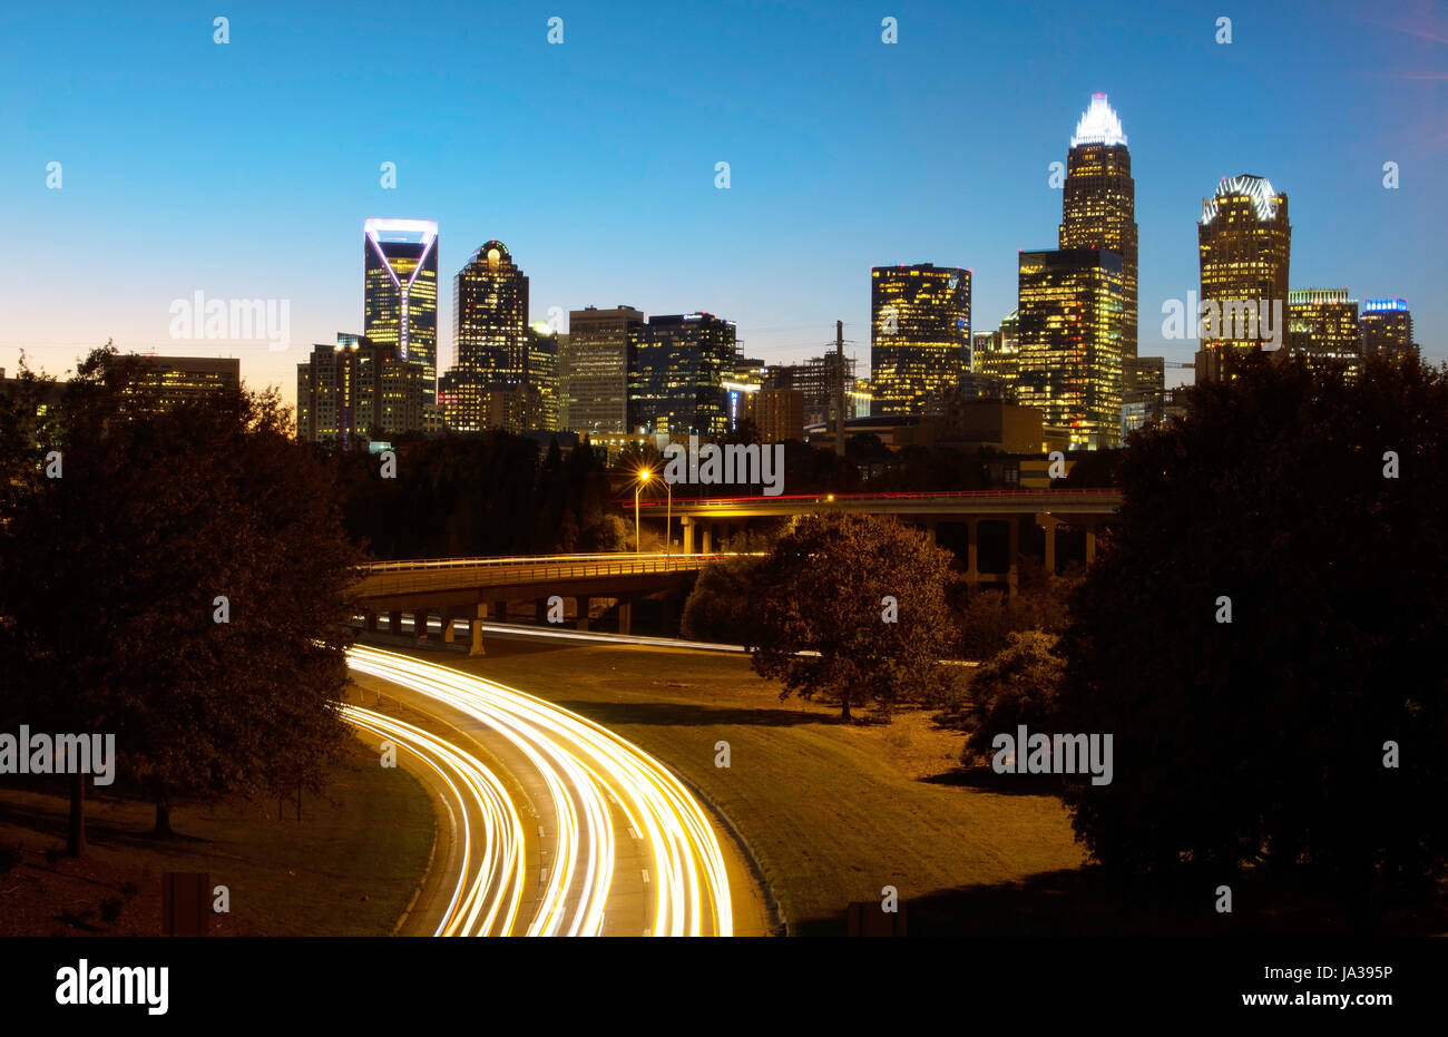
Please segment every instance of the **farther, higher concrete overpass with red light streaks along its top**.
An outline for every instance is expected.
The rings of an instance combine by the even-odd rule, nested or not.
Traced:
[[[633,500],[618,501],[633,510]],[[1003,584],[1014,594],[1018,584],[1021,526],[1031,523],[1044,532],[1045,568],[1056,572],[1056,534],[1061,526],[1082,527],[1086,534],[1086,563],[1096,556],[1096,533],[1121,507],[1119,490],[963,490],[950,492],[895,494],[799,494],[794,497],[653,497],[639,501],[640,520],[681,526],[682,553],[708,555],[747,527],[752,518],[779,518],[827,511],[892,514],[921,526],[935,540],[938,526],[964,527],[966,578],[973,584]],[[979,545],[982,526],[1006,527],[1003,572],[982,572]]]

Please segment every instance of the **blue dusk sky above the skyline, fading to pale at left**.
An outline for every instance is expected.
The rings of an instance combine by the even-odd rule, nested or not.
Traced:
[[[872,265],[970,268],[977,329],[1014,308],[1098,90],[1132,154],[1142,355],[1190,359],[1161,303],[1197,287],[1202,198],[1253,172],[1289,196],[1293,287],[1403,295],[1448,359],[1448,4],[1234,6],[7,6],[0,366],[26,348],[59,374],[114,337],[240,356],[291,400],[308,343],[362,330],[368,216],[439,222],[443,366],[452,275],[489,238],[536,319],[708,310],[767,361],[843,319],[867,365]],[[169,339],[195,291],[290,300],[291,349]]]

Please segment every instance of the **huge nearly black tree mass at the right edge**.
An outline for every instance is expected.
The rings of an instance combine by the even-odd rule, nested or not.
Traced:
[[[1069,789],[1076,831],[1124,875],[1425,894],[1448,855],[1448,369],[1235,374],[1122,453],[1061,642],[1061,723],[1118,756]]]

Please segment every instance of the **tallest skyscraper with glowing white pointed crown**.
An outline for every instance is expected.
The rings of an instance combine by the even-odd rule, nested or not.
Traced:
[[[1137,355],[1137,182],[1121,119],[1093,94],[1066,155],[1060,248],[1106,249],[1121,256],[1121,355]]]

